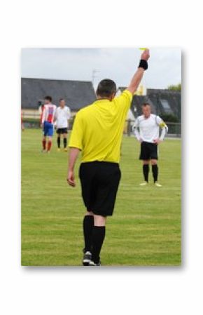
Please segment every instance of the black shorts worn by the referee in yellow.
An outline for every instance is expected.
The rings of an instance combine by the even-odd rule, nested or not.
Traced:
[[[95,215],[113,215],[120,182],[118,163],[85,162],[80,164],[80,185],[87,211]]]

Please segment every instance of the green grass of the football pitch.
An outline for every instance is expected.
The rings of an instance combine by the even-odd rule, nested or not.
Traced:
[[[181,264],[181,141],[160,145],[161,188],[143,180],[139,144],[123,138],[122,180],[109,217],[102,264],[171,266]],[[22,265],[78,266],[83,248],[84,206],[78,165],[75,188],[66,184],[67,155],[41,154],[41,130],[22,133]]]

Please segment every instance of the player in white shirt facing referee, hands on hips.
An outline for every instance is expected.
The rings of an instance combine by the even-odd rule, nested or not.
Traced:
[[[138,116],[134,123],[134,135],[141,143],[139,159],[143,161],[144,182],[141,186],[148,184],[149,164],[151,162],[154,184],[161,187],[158,183],[158,145],[165,138],[168,127],[166,123],[155,114],[151,114],[151,105],[142,105],[143,115]],[[161,135],[160,135],[161,128]]]

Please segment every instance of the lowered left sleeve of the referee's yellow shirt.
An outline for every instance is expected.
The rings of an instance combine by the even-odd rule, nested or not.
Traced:
[[[76,114],[76,118],[73,123],[73,129],[71,131],[71,137],[69,140],[69,147],[76,147],[80,150],[83,149],[83,121],[80,117],[80,112]]]

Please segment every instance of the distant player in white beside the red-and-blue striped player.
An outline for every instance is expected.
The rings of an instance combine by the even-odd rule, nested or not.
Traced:
[[[63,98],[59,100],[59,107],[57,107],[56,113],[56,125],[57,125],[57,146],[58,151],[60,151],[61,146],[61,135],[63,135],[64,139],[64,151],[67,151],[67,133],[69,126],[69,119],[71,118],[71,111],[69,107],[65,106],[65,101]]]

